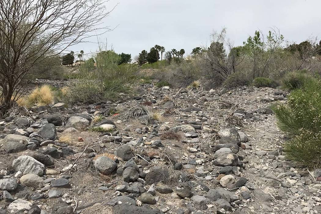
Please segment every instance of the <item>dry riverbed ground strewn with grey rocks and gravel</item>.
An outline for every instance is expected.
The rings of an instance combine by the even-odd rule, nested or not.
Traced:
[[[321,213],[321,170],[282,152],[280,101],[143,84],[125,102],[15,111],[0,121],[0,214]]]

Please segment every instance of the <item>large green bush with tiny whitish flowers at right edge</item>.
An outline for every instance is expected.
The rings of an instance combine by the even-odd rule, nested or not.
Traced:
[[[273,107],[279,128],[291,137],[284,144],[288,158],[303,166],[321,167],[321,85],[305,82],[287,104]]]

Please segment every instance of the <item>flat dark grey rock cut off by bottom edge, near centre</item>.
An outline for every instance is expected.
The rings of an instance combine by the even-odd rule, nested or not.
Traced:
[[[151,210],[146,209],[143,207],[133,206],[133,205],[126,205],[126,204],[117,204],[112,208],[112,214],[162,214],[163,212],[159,210]]]

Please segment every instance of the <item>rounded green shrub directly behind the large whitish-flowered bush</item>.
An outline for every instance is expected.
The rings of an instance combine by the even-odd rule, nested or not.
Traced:
[[[299,89],[305,82],[316,82],[317,80],[305,70],[290,72],[282,79],[283,89]]]

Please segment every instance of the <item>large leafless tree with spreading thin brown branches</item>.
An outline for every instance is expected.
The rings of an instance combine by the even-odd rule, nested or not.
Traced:
[[[46,58],[109,31],[104,0],[0,1],[0,111],[19,96],[25,77]],[[95,32],[95,35],[91,32]]]

